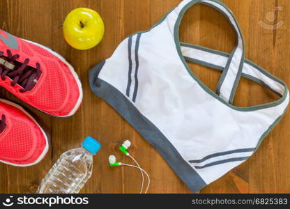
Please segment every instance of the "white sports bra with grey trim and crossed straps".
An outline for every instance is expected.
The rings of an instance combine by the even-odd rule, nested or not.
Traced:
[[[194,3],[219,10],[236,31],[227,54],[181,43],[181,19]],[[213,92],[186,61],[222,70]],[[245,77],[280,95],[252,107],[232,104]],[[148,31],[129,36],[90,71],[91,89],[167,160],[193,192],[238,166],[273,129],[289,103],[286,84],[245,59],[245,42],[231,10],[218,0],[184,0]]]

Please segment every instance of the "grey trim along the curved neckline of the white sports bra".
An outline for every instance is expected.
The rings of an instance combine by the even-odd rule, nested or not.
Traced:
[[[211,1],[215,1],[215,0],[211,0]],[[215,1],[215,2],[220,3],[220,1]],[[270,73],[266,72],[266,70],[264,70],[262,68],[259,68],[259,70],[262,73],[264,73],[264,75],[267,75],[268,77],[271,77],[275,81],[279,81],[280,84],[282,84],[285,87],[285,91],[284,91],[284,94],[283,94],[282,98],[280,98],[280,100],[277,100],[275,102],[269,102],[269,103],[266,103],[266,104],[259,104],[259,105],[251,106],[251,107],[236,107],[233,104],[230,104],[229,102],[225,102],[224,100],[222,100],[222,98],[220,98],[219,95],[217,95],[215,92],[213,92],[210,88],[208,88],[208,86],[206,86],[203,82],[201,82],[200,79],[198,79],[194,75],[194,73],[191,71],[190,67],[186,63],[186,61],[185,61],[185,59],[183,57],[183,54],[181,52],[181,47],[180,47],[180,42],[179,42],[179,34],[178,34],[178,28],[179,28],[179,25],[181,24],[181,19],[182,19],[183,15],[184,15],[185,11],[188,10],[188,8],[190,8],[190,6],[192,6],[192,4],[194,4],[194,3],[197,3],[197,0],[191,1],[190,3],[188,3],[187,6],[185,6],[185,8],[183,8],[183,11],[181,11],[181,13],[179,14],[178,19],[176,20],[176,24],[174,26],[174,41],[175,41],[175,44],[176,44],[176,51],[177,51],[181,61],[183,62],[183,65],[185,66],[185,70],[188,71],[188,73],[192,77],[192,79],[194,79],[197,82],[197,84],[199,84],[199,86],[201,86],[201,88],[203,88],[204,91],[206,91],[206,93],[210,94],[213,98],[219,100],[224,105],[227,105],[227,107],[230,107],[231,109],[234,109],[236,111],[255,111],[255,110],[258,110],[258,109],[266,109],[266,108],[270,108],[270,107],[275,107],[275,106],[281,104],[282,102],[284,102],[284,100],[286,100],[286,98],[287,98],[287,93],[288,93],[287,85],[284,82],[282,82],[280,79],[277,79],[273,75],[270,75]],[[220,3],[220,4],[222,4],[222,3]],[[256,64],[252,63],[252,65],[256,65]]]

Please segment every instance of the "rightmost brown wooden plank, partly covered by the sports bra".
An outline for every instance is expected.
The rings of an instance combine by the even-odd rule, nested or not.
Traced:
[[[275,10],[281,7],[282,10]],[[252,1],[250,24],[250,59],[265,67],[268,72],[289,83],[289,1]],[[273,13],[276,20],[267,15]],[[267,18],[268,17],[268,18]],[[263,22],[265,26],[260,25]],[[267,29],[283,22],[277,29]],[[263,38],[261,38],[263,37]],[[268,96],[252,88],[254,101],[268,102]],[[264,139],[257,153],[250,159],[250,192],[290,192],[289,186],[289,114]]]

